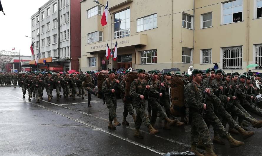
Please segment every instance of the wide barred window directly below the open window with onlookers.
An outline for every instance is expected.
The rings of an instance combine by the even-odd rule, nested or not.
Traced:
[[[242,69],[242,46],[222,48],[223,69]]]

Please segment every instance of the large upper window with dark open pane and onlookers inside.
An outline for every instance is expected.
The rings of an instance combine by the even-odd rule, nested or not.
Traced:
[[[243,0],[223,3],[223,24],[242,21]]]

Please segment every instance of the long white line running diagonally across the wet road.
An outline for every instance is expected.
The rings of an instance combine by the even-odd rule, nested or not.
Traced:
[[[3,92],[3,91],[1,91],[1,92]],[[3,92],[3,93],[5,93],[5,92]],[[8,93],[5,93],[5,94],[12,96],[11,94],[8,94]],[[22,98],[20,98],[20,97],[16,97],[16,98],[22,99]],[[44,101],[44,100],[43,100],[43,101]],[[102,132],[104,132],[104,133],[110,134],[110,135],[112,135],[112,136],[115,136],[115,137],[117,137],[117,138],[120,138],[120,139],[122,139],[122,140],[125,140],[125,141],[127,141],[127,142],[129,142],[129,143],[132,143],[132,144],[137,145],[137,146],[139,146],[139,147],[142,147],[142,148],[145,148],[145,149],[150,150],[150,151],[152,151],[152,152],[155,152],[155,153],[157,153],[157,154],[160,154],[160,155],[164,155],[164,154],[165,154],[165,153],[163,153],[163,152],[161,152],[161,151],[159,151],[159,150],[156,150],[156,149],[151,148],[151,147],[149,147],[149,146],[143,145],[143,144],[141,144],[141,143],[137,143],[137,142],[135,142],[135,141],[132,141],[132,140],[130,140],[130,139],[128,139],[128,138],[124,138],[124,137],[119,136],[119,135],[117,135],[117,134],[108,132],[107,130],[105,130],[105,129],[103,129],[103,128],[94,126],[94,125],[92,125],[92,124],[88,124],[87,122],[84,122],[84,121],[82,121],[82,120],[74,119],[74,118],[72,118],[72,117],[70,117],[70,116],[67,116],[67,115],[65,115],[65,114],[62,114],[62,113],[57,112],[57,111],[55,111],[55,110],[51,110],[51,109],[49,109],[49,108],[47,108],[47,107],[44,107],[44,106],[42,106],[42,105],[40,105],[40,104],[35,104],[35,103],[33,103],[33,102],[30,102],[30,101],[26,101],[26,102],[29,102],[29,103],[34,104],[34,105],[36,105],[36,106],[42,107],[42,108],[44,108],[44,109],[47,109],[47,110],[49,110],[49,111],[52,111],[52,112],[57,113],[57,114],[59,114],[59,115],[62,115],[62,116],[64,116],[64,117],[67,117],[67,118],[69,118],[69,119],[71,119],[71,120],[77,121],[77,122],[79,122],[79,123],[81,123],[81,124],[84,124],[84,125],[87,125],[87,126],[89,126],[89,127],[95,128],[95,129],[97,129],[97,130],[99,130],[99,131],[102,131]],[[58,105],[58,106],[59,106],[59,105]]]

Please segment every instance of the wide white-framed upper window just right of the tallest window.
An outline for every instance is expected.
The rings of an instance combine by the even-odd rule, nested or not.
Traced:
[[[157,27],[157,14],[137,19],[137,32]]]

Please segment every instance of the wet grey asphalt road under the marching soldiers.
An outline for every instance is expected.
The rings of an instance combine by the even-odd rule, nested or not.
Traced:
[[[190,150],[190,126],[172,127],[168,131],[162,129],[163,121],[158,120],[155,126],[160,133],[150,135],[142,125],[144,139],[139,139],[133,136],[131,116],[127,117],[130,126],[107,129],[108,109],[102,99],[92,95],[92,107],[87,107],[87,96],[86,99],[79,97],[68,101],[62,98],[60,102],[56,101],[55,90],[53,96],[52,102],[48,102],[44,90],[44,99],[37,104],[34,98],[29,102],[28,95],[23,99],[21,88],[0,87],[0,155],[153,156]],[[123,103],[118,100],[117,118],[121,123],[122,112]],[[261,156],[262,128],[250,125],[248,129],[256,131],[256,134],[246,140],[240,135],[232,135],[244,141],[245,145],[230,148],[228,143],[215,144],[215,153]],[[213,136],[212,127],[210,132]]]

